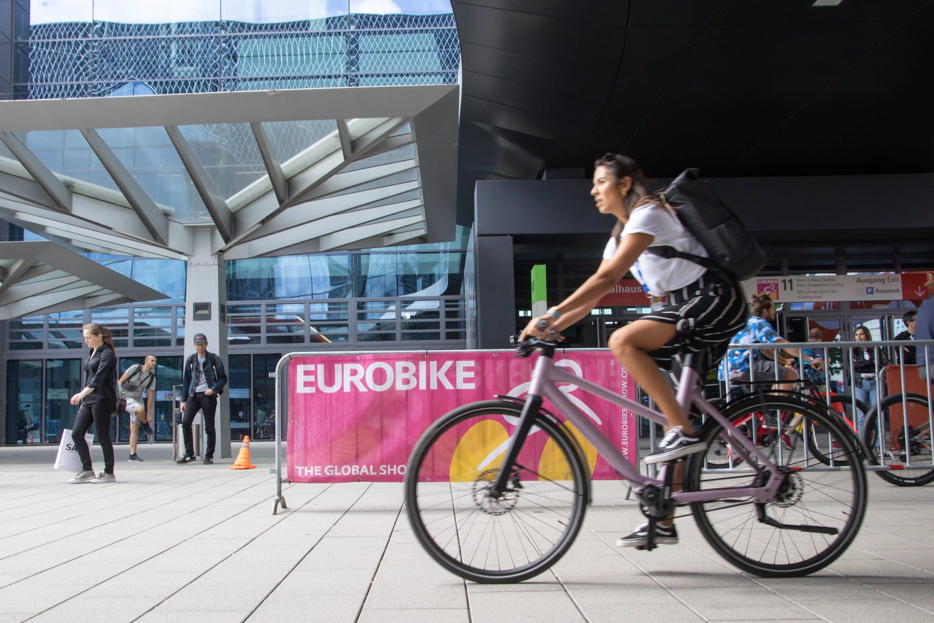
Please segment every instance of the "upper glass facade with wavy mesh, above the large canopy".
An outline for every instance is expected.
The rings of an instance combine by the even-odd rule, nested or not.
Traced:
[[[46,0],[18,17],[13,92],[30,99],[455,84],[460,66],[447,0]]]

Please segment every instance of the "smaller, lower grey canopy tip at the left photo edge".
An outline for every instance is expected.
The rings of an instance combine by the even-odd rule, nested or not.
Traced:
[[[0,243],[0,319],[163,298],[58,243]]]

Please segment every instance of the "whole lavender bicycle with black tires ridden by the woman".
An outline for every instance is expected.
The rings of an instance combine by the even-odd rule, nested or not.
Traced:
[[[412,452],[405,478],[407,514],[418,541],[447,570],[475,582],[520,582],[544,572],[568,551],[591,499],[590,471],[573,431],[630,481],[648,518],[647,550],[656,546],[658,521],[688,507],[721,556],[757,575],[814,573],[853,542],[866,512],[866,474],[854,435],[826,408],[798,395],[763,392],[731,402],[721,412],[701,393],[703,362],[688,355],[678,401],[686,413],[696,408],[705,414],[700,434],[707,451],[661,464],[658,477],[650,477],[640,474],[556,384],[573,383],[661,424],[665,417],[556,366],[556,347],[532,339],[518,348],[521,357],[541,351],[525,399],[454,409],[422,435]],[[546,411],[544,399],[566,421]],[[782,411],[800,414],[805,426],[820,427],[830,442],[829,459],[851,467],[828,468],[807,443],[786,449],[777,435],[771,443],[753,443],[733,425],[749,415]],[[437,465],[451,465],[466,432],[474,432],[476,440],[484,429],[502,430],[503,425],[509,427],[509,439],[496,450],[464,448],[448,480],[432,479]],[[722,439],[730,440],[743,469],[705,469],[702,457]],[[679,461],[686,462],[684,489],[674,491]]]

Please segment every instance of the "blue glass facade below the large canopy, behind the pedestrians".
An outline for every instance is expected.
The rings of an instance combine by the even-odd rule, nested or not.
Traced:
[[[275,379],[269,373],[284,352],[464,347],[466,237],[459,228],[457,241],[440,245],[227,262],[231,438],[272,438]],[[184,262],[95,259],[184,300]],[[120,373],[156,355],[155,441],[172,439],[185,306],[169,300],[7,321],[7,444],[56,444],[74,422],[77,407],[68,399],[82,387],[81,327],[88,322],[113,333]],[[129,441],[128,414],[111,427],[115,441]],[[141,433],[140,443],[148,441]]]

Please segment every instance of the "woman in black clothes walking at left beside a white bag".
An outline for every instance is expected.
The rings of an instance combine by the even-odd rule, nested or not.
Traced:
[[[110,441],[110,416],[117,407],[117,351],[110,330],[96,322],[84,325],[84,343],[91,348],[91,357],[84,364],[84,389],[71,397],[71,404],[80,404],[71,440],[81,459],[81,471],[68,480],[82,483],[117,482],[114,476],[114,446]],[[84,440],[91,425],[97,432],[97,443],[104,452],[104,471],[94,475],[91,448]]]

